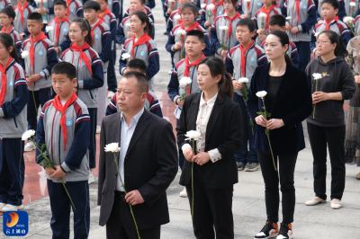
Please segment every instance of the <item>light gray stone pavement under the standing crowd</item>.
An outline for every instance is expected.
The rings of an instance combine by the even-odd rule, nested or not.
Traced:
[[[130,1],[124,1],[127,8]],[[160,72],[155,77],[155,91],[166,91],[169,81],[167,72],[171,69],[169,54],[166,52],[167,41],[165,31],[161,1],[156,1],[156,8],[153,14],[156,20],[156,42],[160,55]],[[120,49],[118,50],[118,57]],[[118,67],[116,67],[118,69]],[[313,176],[312,176],[312,154],[309,145],[306,124],[304,135],[306,137],[307,148],[300,152],[295,169],[295,189],[296,207],[293,222],[293,234],[296,239],[360,239],[360,181],[356,181],[355,175],[360,169],[355,166],[347,165],[347,183],[344,197],[342,199],[343,208],[334,210],[330,208],[330,202],[319,206],[308,207],[304,205],[307,199],[314,196]],[[180,170],[176,175],[175,181],[166,190],[168,207],[170,213],[170,223],[162,226],[162,239],[191,239],[193,236],[193,226],[188,199],[180,198],[179,192],[183,190],[178,184]],[[331,168],[328,165],[327,188],[330,195]],[[96,206],[97,181],[90,184],[91,199],[91,226],[90,239],[105,238],[105,227],[98,226],[100,207]],[[259,230],[266,223],[265,187],[261,175],[261,170],[253,173],[238,172],[238,183],[234,185],[233,215],[235,238],[250,239],[254,238]],[[25,238],[48,239],[51,238],[49,221],[51,217],[49,207],[49,197],[36,200],[26,205],[25,211],[29,213],[30,232]],[[282,208],[280,207],[280,222]],[[73,217],[71,215],[71,217]],[[0,231],[3,231],[2,219]],[[73,223],[71,222],[71,230]],[[74,237],[73,233],[70,235]],[[0,238],[5,236],[0,232]],[[14,237],[16,238],[16,237]],[[224,239],[224,238],[220,238]],[[226,238],[225,238],[226,239]]]

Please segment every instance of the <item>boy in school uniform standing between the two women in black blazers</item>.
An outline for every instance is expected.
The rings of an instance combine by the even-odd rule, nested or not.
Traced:
[[[249,82],[247,89],[250,86],[251,77],[255,72],[257,66],[267,64],[267,58],[264,49],[255,44],[252,38],[255,36],[256,24],[249,18],[242,19],[237,24],[237,38],[238,46],[229,50],[228,56],[225,59],[225,66],[227,72],[232,75],[234,79],[234,102],[240,105],[242,112],[247,112],[247,106],[243,99],[242,89],[243,85],[238,83],[238,79],[246,77]],[[244,120],[244,134],[242,139],[242,146],[235,154],[238,170],[245,168],[245,171],[257,171],[260,167],[257,159],[257,150],[252,146],[253,132],[249,123],[247,113],[242,114]],[[249,150],[247,150],[247,142]]]

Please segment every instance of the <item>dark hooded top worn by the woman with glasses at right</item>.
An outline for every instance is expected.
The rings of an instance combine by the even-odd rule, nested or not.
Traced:
[[[318,92],[337,93],[343,96],[342,101],[319,102],[313,114],[307,121],[311,124],[324,127],[337,127],[345,125],[344,101],[351,99],[355,93],[356,85],[354,75],[344,58],[338,57],[323,62],[320,57],[315,58],[306,66],[306,75],[310,80],[311,93],[316,92],[316,81],[312,74],[320,73],[323,77],[318,80]],[[325,75],[325,76],[324,76]]]

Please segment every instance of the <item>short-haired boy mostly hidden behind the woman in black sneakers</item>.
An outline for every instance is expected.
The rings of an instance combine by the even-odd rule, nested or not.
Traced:
[[[285,31],[286,27],[286,19],[283,15],[273,15],[270,17],[269,22],[267,22],[269,25],[269,31]],[[264,49],[265,40],[261,44],[261,47]],[[298,49],[296,48],[296,45],[293,43],[293,41],[289,41],[289,49],[287,50],[287,54],[292,59],[293,66],[296,68],[299,68],[299,53]]]

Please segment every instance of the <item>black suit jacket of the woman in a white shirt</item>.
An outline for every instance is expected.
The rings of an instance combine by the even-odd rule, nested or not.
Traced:
[[[184,135],[189,130],[196,130],[196,119],[202,93],[192,93],[185,98],[183,110],[179,119],[177,131],[177,145],[179,150],[188,143]],[[206,127],[205,152],[218,148],[221,159],[212,163],[211,160],[202,165],[204,181],[209,188],[220,189],[238,182],[238,168],[235,153],[241,147],[242,115],[238,103],[233,102],[221,91],[211,111]],[[192,163],[184,161],[180,184],[183,186],[191,182]]]

